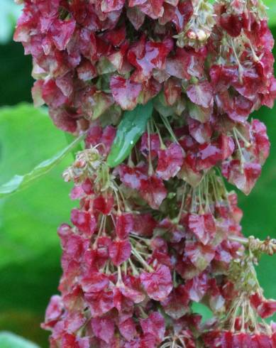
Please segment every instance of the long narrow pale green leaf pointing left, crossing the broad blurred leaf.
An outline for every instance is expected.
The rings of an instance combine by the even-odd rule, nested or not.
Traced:
[[[28,187],[33,181],[38,180],[41,176],[47,174],[50,170],[55,168],[72,149],[77,146],[77,144],[82,141],[84,135],[75,138],[70,145],[64,148],[62,151],[57,153],[52,158],[43,161],[37,165],[30,173],[26,175],[15,175],[8,183],[0,186],[0,198],[5,197],[6,195],[11,195],[12,193],[18,190],[24,190]]]

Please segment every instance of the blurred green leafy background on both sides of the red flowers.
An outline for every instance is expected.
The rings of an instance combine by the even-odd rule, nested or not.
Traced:
[[[276,38],[276,3],[265,4],[270,6],[270,27]],[[12,0],[1,0],[0,184],[27,173],[67,145],[47,113],[28,104],[32,102],[31,58],[11,40],[19,12]],[[260,109],[254,116],[267,125],[272,148],[253,192],[249,197],[239,194],[243,228],[246,235],[276,237],[276,107]],[[48,334],[40,330],[40,322],[61,273],[56,230],[68,221],[72,207],[70,185],[61,178],[70,161],[67,156],[27,190],[0,200],[0,332],[14,332],[40,347],[48,347]],[[275,269],[276,256],[263,257],[258,274],[267,298],[276,297]]]

